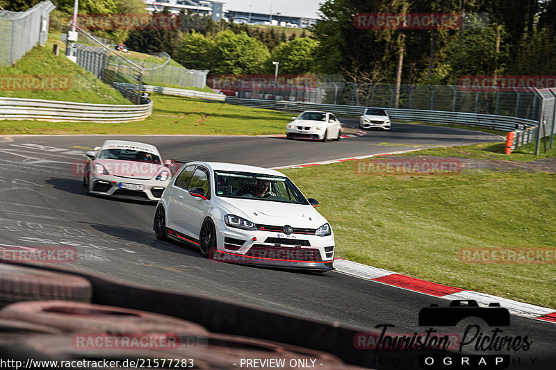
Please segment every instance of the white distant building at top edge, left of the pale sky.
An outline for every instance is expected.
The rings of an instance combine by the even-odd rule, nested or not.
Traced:
[[[177,14],[185,12],[198,13],[200,15],[210,15],[213,21],[218,22],[224,17],[223,1],[215,0],[144,0],[147,11],[156,12],[166,8],[170,12]]]

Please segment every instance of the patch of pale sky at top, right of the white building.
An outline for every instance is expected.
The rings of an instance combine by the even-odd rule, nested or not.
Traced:
[[[316,18],[318,3],[325,0],[222,0],[226,3],[228,10],[249,11],[251,4],[252,12],[270,13],[272,4],[272,14],[281,12],[282,15],[291,15],[294,17]]]

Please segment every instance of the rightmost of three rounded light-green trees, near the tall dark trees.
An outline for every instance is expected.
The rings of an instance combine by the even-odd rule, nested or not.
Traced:
[[[313,72],[318,41],[309,37],[296,37],[282,42],[272,51],[272,60],[280,62],[281,74],[305,74]]]

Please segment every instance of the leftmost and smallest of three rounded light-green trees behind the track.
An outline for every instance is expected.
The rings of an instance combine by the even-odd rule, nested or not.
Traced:
[[[213,38],[193,31],[181,38],[174,59],[189,69],[211,69],[214,53]]]

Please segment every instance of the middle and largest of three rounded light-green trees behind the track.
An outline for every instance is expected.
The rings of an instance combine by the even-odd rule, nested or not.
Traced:
[[[247,33],[223,31],[215,37],[212,74],[258,74],[263,71],[270,52]]]

